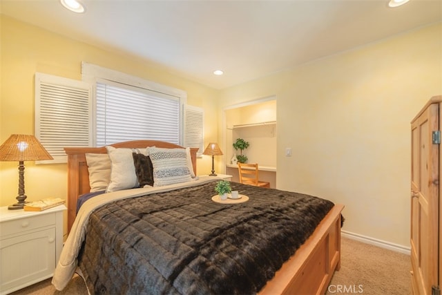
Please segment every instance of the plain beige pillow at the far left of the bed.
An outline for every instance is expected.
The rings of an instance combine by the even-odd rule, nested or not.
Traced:
[[[104,191],[111,182],[111,159],[107,153],[86,153],[90,192]]]

